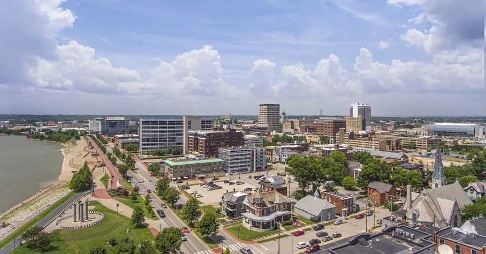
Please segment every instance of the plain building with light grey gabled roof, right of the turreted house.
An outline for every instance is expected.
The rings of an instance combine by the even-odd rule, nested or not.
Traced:
[[[328,221],[336,218],[336,206],[321,199],[315,190],[314,195],[307,195],[294,205],[294,211],[307,219],[316,218],[317,221]]]

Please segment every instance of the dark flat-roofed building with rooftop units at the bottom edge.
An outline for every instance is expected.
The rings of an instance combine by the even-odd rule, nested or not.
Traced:
[[[335,244],[328,249],[328,252],[330,254],[434,254],[435,243],[430,240],[431,237],[432,233],[406,225],[393,225],[375,234],[360,233],[340,244]]]

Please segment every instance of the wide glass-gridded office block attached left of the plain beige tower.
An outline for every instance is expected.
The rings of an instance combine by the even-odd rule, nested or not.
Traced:
[[[139,127],[140,153],[183,147],[184,121],[182,118],[141,118]]]

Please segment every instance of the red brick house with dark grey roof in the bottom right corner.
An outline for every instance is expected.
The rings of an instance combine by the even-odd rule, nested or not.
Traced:
[[[478,216],[466,221],[460,228],[452,226],[444,228],[435,235],[435,244],[438,250],[450,249],[448,253],[484,254],[486,253],[486,219]]]

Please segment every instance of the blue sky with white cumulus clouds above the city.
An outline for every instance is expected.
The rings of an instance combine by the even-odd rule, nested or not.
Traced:
[[[486,115],[480,0],[3,0],[0,114]]]

